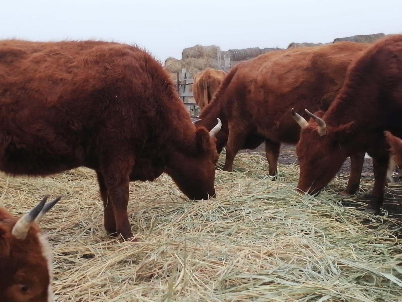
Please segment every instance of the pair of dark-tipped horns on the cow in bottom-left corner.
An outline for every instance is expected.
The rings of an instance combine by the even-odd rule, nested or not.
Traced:
[[[35,219],[40,219],[47,211],[51,209],[51,207],[53,207],[57,203],[57,201],[60,200],[61,197],[57,197],[54,201],[52,201],[45,207],[45,203],[48,198],[49,195],[43,197],[42,201],[38,205],[36,205],[36,207],[34,207],[29,213],[25,214],[20,219],[18,219],[11,232],[11,234],[15,238],[21,240],[25,239]]]

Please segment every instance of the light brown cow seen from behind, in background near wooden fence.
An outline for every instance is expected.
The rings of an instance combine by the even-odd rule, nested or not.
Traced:
[[[211,103],[211,99],[218,90],[219,85],[226,77],[226,72],[207,68],[197,73],[193,80],[193,95],[195,103],[202,110]]]

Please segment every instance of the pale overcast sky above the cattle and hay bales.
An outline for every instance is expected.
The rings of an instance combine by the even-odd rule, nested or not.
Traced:
[[[291,42],[402,33],[402,0],[3,0],[0,38],[136,43],[162,62],[183,48],[286,48]]]

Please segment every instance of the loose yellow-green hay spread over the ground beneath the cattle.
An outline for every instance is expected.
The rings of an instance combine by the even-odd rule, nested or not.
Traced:
[[[222,165],[224,156],[219,159]],[[398,301],[400,241],[381,219],[339,207],[331,193],[294,191],[298,168],[266,175],[263,157],[240,154],[218,171],[219,197],[190,202],[167,176],[131,183],[138,242],[105,235],[94,173],[1,175],[2,204],[25,213],[45,193],[63,199],[43,218],[53,246],[57,301]],[[371,228],[363,226],[371,219]]]

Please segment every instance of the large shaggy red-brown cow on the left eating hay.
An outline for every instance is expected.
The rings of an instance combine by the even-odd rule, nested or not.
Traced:
[[[166,172],[190,199],[213,197],[219,128],[196,129],[161,64],[137,47],[0,41],[0,170],[94,169],[111,234],[132,237],[132,180]]]

